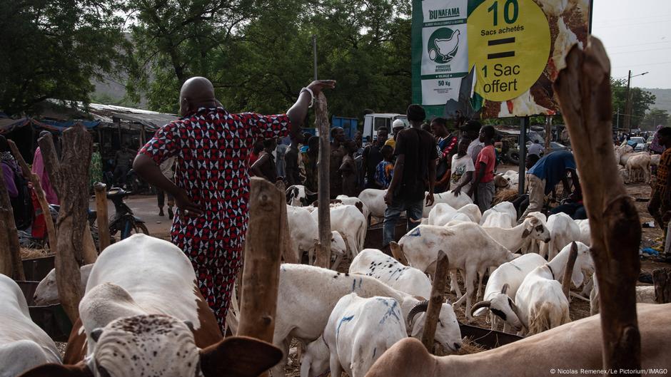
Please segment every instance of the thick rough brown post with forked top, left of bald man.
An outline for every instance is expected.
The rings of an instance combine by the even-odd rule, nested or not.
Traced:
[[[61,160],[51,134],[39,139],[49,180],[61,200],[56,249],[56,284],[59,299],[72,323],[79,319],[81,300],[79,267],[84,264],[84,229],[89,227],[89,164],[91,163],[91,135],[81,124],[63,133]]]

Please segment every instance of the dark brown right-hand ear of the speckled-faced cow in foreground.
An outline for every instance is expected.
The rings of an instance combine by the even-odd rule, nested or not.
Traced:
[[[231,336],[201,350],[205,377],[256,377],[275,366],[280,348],[247,336]]]

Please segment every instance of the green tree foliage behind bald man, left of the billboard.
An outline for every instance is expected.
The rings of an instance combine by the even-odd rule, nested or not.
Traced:
[[[173,4],[174,3],[174,4]],[[329,112],[405,112],[410,101],[410,4],[400,0],[167,0],[129,2],[146,74],[131,83],[149,108],[176,112],[181,83],[213,81],[231,111],[279,113],[313,78],[338,81]]]

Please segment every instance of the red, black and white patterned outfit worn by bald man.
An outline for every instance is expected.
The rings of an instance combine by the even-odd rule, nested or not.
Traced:
[[[140,150],[156,164],[176,156],[176,185],[203,208],[186,220],[178,209],[171,239],[191,260],[222,331],[247,232],[249,154],[256,140],[283,138],[290,125],[286,115],[200,108],[163,126]]]

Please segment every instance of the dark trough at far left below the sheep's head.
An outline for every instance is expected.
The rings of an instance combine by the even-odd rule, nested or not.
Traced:
[[[27,271],[28,270],[26,270],[26,274]],[[47,270],[47,272],[48,271],[49,270]],[[16,284],[19,284],[21,291],[23,291],[24,296],[26,297],[30,317],[35,324],[46,331],[46,334],[48,334],[51,339],[54,339],[54,341],[68,341],[70,331],[72,330],[72,324],[68,315],[65,313],[63,306],[61,306],[61,304],[44,306],[35,305],[33,296],[39,282],[19,281],[16,282]]]

